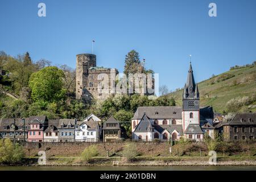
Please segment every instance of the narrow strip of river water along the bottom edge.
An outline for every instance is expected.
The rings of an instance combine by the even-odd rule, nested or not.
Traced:
[[[256,166],[106,166],[106,167],[88,167],[88,166],[61,166],[61,167],[23,167],[23,166],[0,166],[0,171],[256,171]]]

